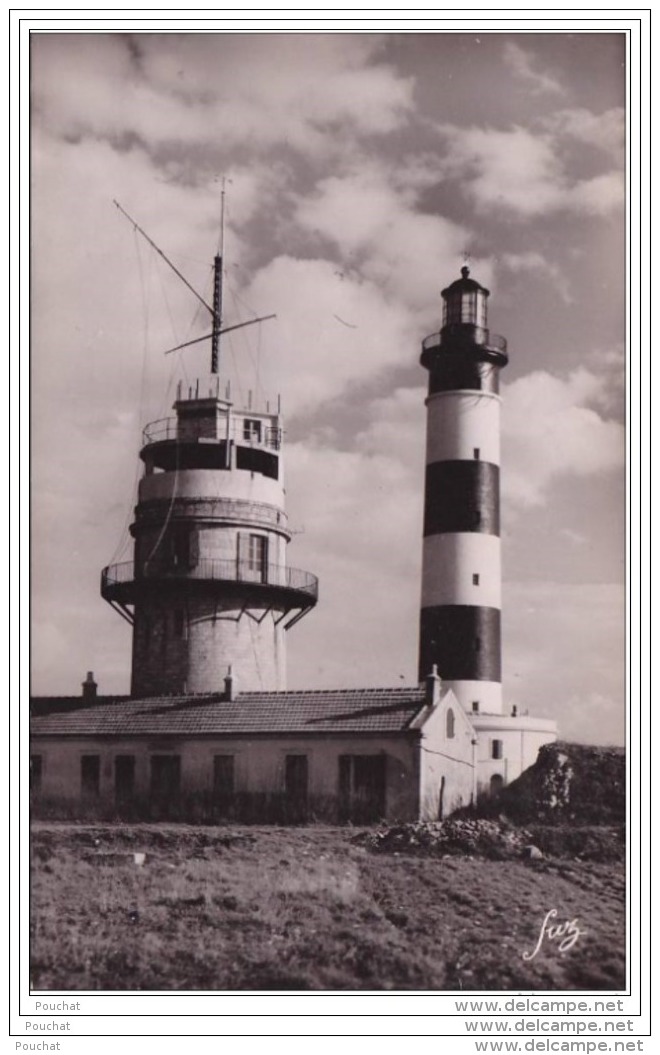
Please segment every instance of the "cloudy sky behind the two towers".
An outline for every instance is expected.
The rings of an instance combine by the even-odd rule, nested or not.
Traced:
[[[132,558],[143,425],[207,378],[226,179],[237,402],[282,394],[288,562],[319,577],[289,688],[414,684],[421,341],[467,258],[502,376],[504,706],[623,742],[622,35],[36,33],[32,690],[128,692],[101,569]]]

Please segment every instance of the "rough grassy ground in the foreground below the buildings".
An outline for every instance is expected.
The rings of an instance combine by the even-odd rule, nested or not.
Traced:
[[[622,862],[376,855],[354,836],[39,823],[33,987],[624,989]],[[584,934],[523,960],[550,908]]]

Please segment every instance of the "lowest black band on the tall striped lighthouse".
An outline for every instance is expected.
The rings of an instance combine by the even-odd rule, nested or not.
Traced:
[[[433,664],[447,680],[502,679],[499,609],[438,605],[421,616],[420,679]]]

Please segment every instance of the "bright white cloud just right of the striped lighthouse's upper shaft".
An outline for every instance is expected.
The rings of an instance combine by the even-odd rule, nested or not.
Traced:
[[[594,409],[605,380],[583,367],[567,378],[537,370],[506,385],[504,495],[511,507],[541,505],[561,476],[586,477],[624,463],[622,424]]]

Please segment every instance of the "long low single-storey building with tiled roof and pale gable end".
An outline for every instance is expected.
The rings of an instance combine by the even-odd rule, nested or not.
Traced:
[[[39,710],[37,707],[36,710]],[[477,793],[474,731],[421,688],[121,697],[33,713],[37,816],[436,820]]]

